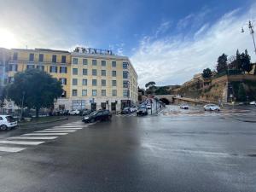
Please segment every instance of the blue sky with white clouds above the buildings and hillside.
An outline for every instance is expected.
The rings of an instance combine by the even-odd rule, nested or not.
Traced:
[[[248,20],[253,0],[0,0],[0,47],[113,49],[140,86],[183,84],[236,49],[255,62]]]

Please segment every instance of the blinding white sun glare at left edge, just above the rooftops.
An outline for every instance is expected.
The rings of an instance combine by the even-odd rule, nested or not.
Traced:
[[[14,48],[15,46],[17,46],[15,35],[8,30],[0,28],[0,47]]]

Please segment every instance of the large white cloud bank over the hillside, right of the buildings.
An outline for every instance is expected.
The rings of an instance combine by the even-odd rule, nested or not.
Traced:
[[[238,11],[236,9],[221,16],[212,25],[202,23],[194,34],[187,36],[179,34],[158,39],[145,36],[131,56],[139,75],[139,84],[143,86],[151,80],[157,84],[182,84],[204,68],[214,68],[222,53],[235,55],[236,49],[248,49],[252,61],[256,61],[251,35],[248,30],[241,33],[241,26],[256,17],[256,4],[243,15],[238,15]],[[194,17],[188,15],[177,26],[193,26],[194,23],[189,22],[193,22]]]

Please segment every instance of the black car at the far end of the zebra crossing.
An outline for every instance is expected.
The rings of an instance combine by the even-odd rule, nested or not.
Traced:
[[[82,121],[84,123],[93,123],[98,120],[110,120],[111,118],[112,114],[109,112],[109,110],[99,110],[84,116]]]

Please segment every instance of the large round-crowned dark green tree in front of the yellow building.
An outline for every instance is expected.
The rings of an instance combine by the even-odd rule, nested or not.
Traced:
[[[8,98],[21,107],[24,96],[23,106],[35,108],[38,117],[39,109],[52,107],[62,92],[60,81],[38,69],[29,69],[15,74],[15,81],[8,88]]]

